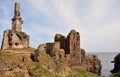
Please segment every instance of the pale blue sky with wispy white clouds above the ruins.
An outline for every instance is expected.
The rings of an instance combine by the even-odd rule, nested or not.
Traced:
[[[0,0],[1,43],[3,31],[11,29],[15,2],[31,47],[75,29],[86,52],[120,52],[120,0]]]

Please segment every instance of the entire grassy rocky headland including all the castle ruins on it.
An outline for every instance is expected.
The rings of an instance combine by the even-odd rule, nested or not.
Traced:
[[[56,34],[54,42],[29,47],[29,35],[22,32],[20,4],[15,3],[12,29],[5,30],[0,50],[0,77],[98,77],[101,61],[80,48],[80,34]],[[89,72],[87,72],[89,71]],[[90,73],[92,72],[92,73]],[[97,75],[95,75],[95,74]]]

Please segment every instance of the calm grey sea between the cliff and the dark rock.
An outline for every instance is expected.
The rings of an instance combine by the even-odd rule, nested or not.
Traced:
[[[101,76],[110,76],[112,70],[114,68],[114,63],[111,63],[111,61],[114,61],[114,57],[120,52],[105,52],[105,53],[87,53],[87,54],[95,54],[98,55],[99,59],[101,60],[102,64],[102,70],[101,70]]]

